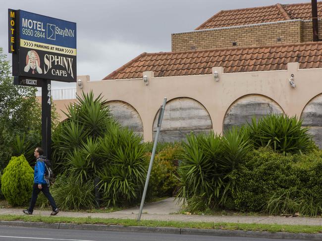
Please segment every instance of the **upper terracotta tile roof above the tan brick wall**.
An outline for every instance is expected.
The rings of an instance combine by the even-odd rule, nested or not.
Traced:
[[[321,11],[322,2],[318,2],[318,16],[322,16]],[[222,10],[195,30],[278,22],[291,19],[311,19],[311,2],[285,5],[277,3],[271,6]]]

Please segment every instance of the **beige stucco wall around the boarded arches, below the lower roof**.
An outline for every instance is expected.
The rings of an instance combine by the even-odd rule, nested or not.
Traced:
[[[245,95],[267,96],[285,114],[300,117],[306,104],[322,93],[322,68],[299,69],[298,63],[289,63],[287,70],[280,71],[223,73],[221,67],[214,67],[213,72],[215,70],[219,73],[217,82],[213,75],[154,78],[153,72],[142,73],[142,76],[149,76],[148,85],[142,79],[90,81],[89,76],[79,76],[82,89],[77,86],[77,93],[93,90],[96,96],[103,93],[107,101],[129,103],[141,117],[144,141],[153,139],[154,119],[164,97],[168,101],[178,97],[197,100],[209,112],[214,131],[221,133],[226,111]],[[291,74],[295,89],[289,84]]]

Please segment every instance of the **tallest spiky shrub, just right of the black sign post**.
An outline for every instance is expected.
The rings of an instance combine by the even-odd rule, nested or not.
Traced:
[[[68,170],[70,167],[75,171],[75,167],[79,167],[77,161],[80,158],[77,152],[81,150],[82,158],[90,161],[89,166],[92,169],[91,173],[87,173],[87,177],[92,178],[99,160],[96,155],[97,140],[104,136],[110,125],[117,123],[103,97],[99,95],[95,98],[92,91],[77,96],[76,102],[67,107],[65,114],[67,119],[58,125],[52,137],[53,166],[61,169],[57,172]]]

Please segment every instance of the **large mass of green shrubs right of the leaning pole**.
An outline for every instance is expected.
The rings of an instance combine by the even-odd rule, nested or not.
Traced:
[[[190,211],[321,213],[322,152],[301,124],[296,117],[268,115],[222,137],[190,134],[177,197],[186,198]]]

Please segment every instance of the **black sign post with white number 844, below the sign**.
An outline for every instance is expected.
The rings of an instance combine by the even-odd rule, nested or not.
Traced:
[[[52,155],[52,83],[43,80],[42,85],[42,147],[44,156],[51,159]]]

